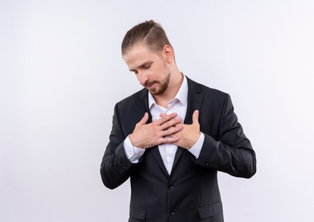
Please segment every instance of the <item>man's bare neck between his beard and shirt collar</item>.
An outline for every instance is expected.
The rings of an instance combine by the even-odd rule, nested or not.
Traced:
[[[180,86],[183,82],[183,75],[179,69],[175,69],[171,72],[170,82],[166,91],[161,95],[153,95],[156,104],[168,108],[168,103],[171,99],[175,98]]]

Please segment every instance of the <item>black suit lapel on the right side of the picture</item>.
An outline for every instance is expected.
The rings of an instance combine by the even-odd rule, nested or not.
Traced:
[[[189,79],[188,77],[187,77],[187,80],[188,80],[188,107],[187,107],[187,114],[184,119],[184,124],[190,125],[193,123],[192,115],[194,111],[196,109],[200,111],[201,109],[204,96],[199,94],[199,92],[202,92],[202,88],[200,87],[199,84]],[[185,150],[184,148],[178,147],[171,172],[173,171],[176,164],[178,163],[178,160],[180,159],[184,150]]]

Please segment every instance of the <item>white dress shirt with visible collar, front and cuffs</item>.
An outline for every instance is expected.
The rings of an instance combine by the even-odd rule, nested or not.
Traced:
[[[182,74],[183,75],[183,74]],[[168,108],[160,106],[156,104],[155,99],[148,91],[148,107],[153,120],[158,120],[161,117],[159,116],[161,113],[164,114],[172,114],[177,113],[178,116],[176,118],[185,119],[188,107],[188,81],[185,75],[183,75],[183,82],[180,86],[180,89],[175,96],[174,99],[170,100],[168,103]],[[198,158],[204,143],[204,134],[201,133],[200,138],[196,142],[196,144],[189,149],[189,151]],[[124,140],[123,143],[124,151],[127,158],[131,163],[137,163],[138,159],[143,155],[146,149],[139,149],[132,145],[129,137]],[[149,149],[149,148],[147,148]],[[158,145],[159,152],[162,156],[165,167],[170,175],[171,169],[174,163],[176,151],[178,146],[175,144],[160,144]]]

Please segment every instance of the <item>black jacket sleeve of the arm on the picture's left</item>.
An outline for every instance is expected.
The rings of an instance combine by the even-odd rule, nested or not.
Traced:
[[[114,189],[126,181],[136,167],[136,164],[132,164],[125,154],[123,148],[125,137],[118,116],[117,103],[114,106],[112,130],[109,136],[109,143],[106,147],[100,165],[102,182],[109,189]]]

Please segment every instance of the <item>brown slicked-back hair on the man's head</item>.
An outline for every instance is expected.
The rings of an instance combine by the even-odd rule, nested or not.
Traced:
[[[154,52],[162,51],[165,45],[170,45],[173,49],[163,27],[152,20],[140,23],[127,31],[121,45],[122,56],[141,42]]]

